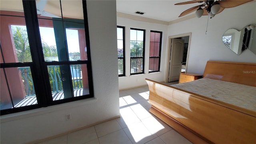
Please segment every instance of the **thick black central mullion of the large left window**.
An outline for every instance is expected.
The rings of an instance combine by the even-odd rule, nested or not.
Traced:
[[[28,32],[28,40],[30,44],[30,51],[32,56],[33,68],[35,74],[35,92],[37,93],[38,105],[47,106],[46,94],[46,78],[43,70],[43,53],[42,43],[39,32],[38,17],[36,12],[35,0],[22,0],[24,7],[24,16]]]

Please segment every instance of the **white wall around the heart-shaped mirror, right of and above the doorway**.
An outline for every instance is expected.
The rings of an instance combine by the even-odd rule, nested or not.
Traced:
[[[241,30],[248,24],[256,24],[256,2],[250,2],[234,8],[226,8],[209,20],[208,16],[192,18],[168,26],[168,36],[192,32],[187,72],[203,74],[208,60],[256,62],[256,55],[246,50],[240,55],[235,54],[222,42],[226,30]]]

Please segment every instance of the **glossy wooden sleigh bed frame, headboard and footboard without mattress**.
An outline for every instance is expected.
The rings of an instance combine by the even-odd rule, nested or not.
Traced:
[[[208,61],[204,78],[256,87],[256,63]],[[150,112],[194,144],[256,144],[256,111],[146,79]]]

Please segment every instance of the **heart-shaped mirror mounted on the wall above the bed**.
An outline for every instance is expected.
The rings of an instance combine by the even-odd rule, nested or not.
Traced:
[[[250,24],[240,31],[229,29],[223,34],[222,42],[238,55],[247,49],[256,54],[256,25]]]

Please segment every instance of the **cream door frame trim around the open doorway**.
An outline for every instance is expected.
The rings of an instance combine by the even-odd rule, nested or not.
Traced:
[[[189,50],[190,50],[190,40],[191,40],[191,32],[190,33],[186,33],[186,34],[178,34],[175,36],[168,36],[168,48],[167,48],[167,58],[166,58],[166,72],[165,72],[165,80],[164,82],[168,82],[168,78],[169,78],[169,70],[170,70],[170,60],[171,60],[171,50],[172,50],[172,39],[173,38],[180,38],[180,37],[184,37],[184,36],[189,36],[188,39],[188,53],[187,53],[187,59],[186,59],[186,71],[187,71],[187,66],[188,66],[188,56],[189,56]],[[185,72],[186,72],[185,71]]]

